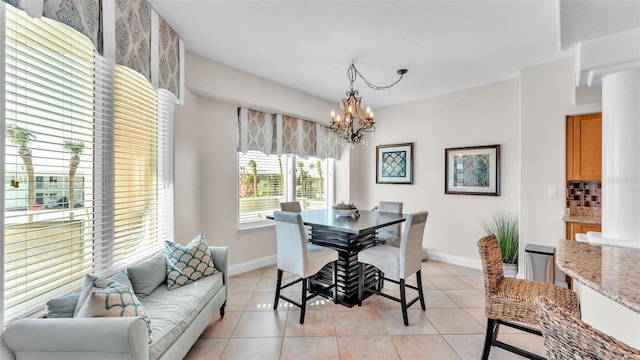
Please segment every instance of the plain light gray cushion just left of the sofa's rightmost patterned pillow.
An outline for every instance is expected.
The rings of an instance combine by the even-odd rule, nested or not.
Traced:
[[[127,275],[138,298],[148,296],[167,279],[164,251],[127,269]]]

